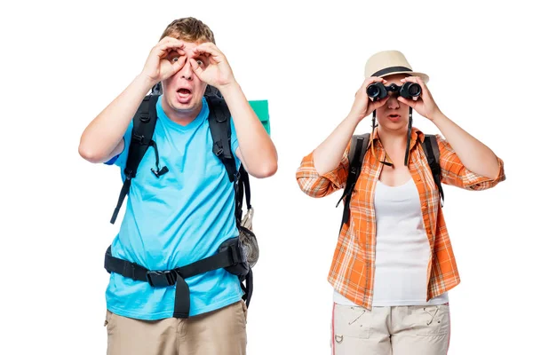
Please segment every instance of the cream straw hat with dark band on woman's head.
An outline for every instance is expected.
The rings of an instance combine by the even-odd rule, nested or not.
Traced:
[[[401,51],[379,51],[367,60],[364,67],[364,77],[383,77],[394,74],[409,74],[419,76],[424,83],[429,81],[429,76],[424,73],[414,72],[409,62]]]

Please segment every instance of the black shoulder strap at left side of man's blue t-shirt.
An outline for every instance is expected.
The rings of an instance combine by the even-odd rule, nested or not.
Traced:
[[[124,168],[125,180],[118,197],[118,202],[111,217],[111,224],[115,224],[118,212],[123,204],[124,198],[130,192],[131,179],[137,175],[137,168],[142,157],[147,152],[148,146],[153,145],[152,136],[154,135],[155,122],[157,121],[157,103],[158,95],[147,95],[139,105],[139,109],[133,116],[133,129],[131,130],[131,142],[128,150],[128,159]],[[158,160],[158,159],[157,159]],[[166,167],[159,170],[159,173],[168,171]]]

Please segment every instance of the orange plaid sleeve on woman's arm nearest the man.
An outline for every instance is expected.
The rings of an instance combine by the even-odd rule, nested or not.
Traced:
[[[324,197],[344,188],[348,176],[349,149],[350,145],[348,144],[338,167],[323,175],[320,175],[314,168],[314,151],[307,154],[296,171],[296,179],[300,189],[311,197]]]

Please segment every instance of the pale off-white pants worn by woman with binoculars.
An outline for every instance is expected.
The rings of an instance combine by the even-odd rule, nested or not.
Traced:
[[[445,355],[449,305],[362,307],[333,304],[333,355]]]

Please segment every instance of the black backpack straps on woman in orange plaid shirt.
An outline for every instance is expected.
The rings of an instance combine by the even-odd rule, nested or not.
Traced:
[[[444,191],[442,190],[441,185],[441,166],[439,165],[439,146],[437,143],[437,138],[432,134],[426,134],[424,139],[424,144],[422,145],[424,153],[426,154],[427,162],[431,169],[432,175],[434,177],[434,182],[439,188],[439,193],[441,194],[441,200],[444,201]],[[338,200],[337,206],[345,197],[344,211],[342,214],[342,223],[340,229],[342,230],[342,225],[348,223],[350,219],[350,200],[352,198],[352,193],[354,192],[355,183],[357,178],[361,174],[362,161],[364,160],[364,155],[367,152],[369,146],[370,133],[354,135],[352,136],[352,144],[350,146],[350,153],[348,154],[348,160],[350,166],[348,169],[348,177],[346,178],[346,186],[344,193],[342,194],[340,200]]]

